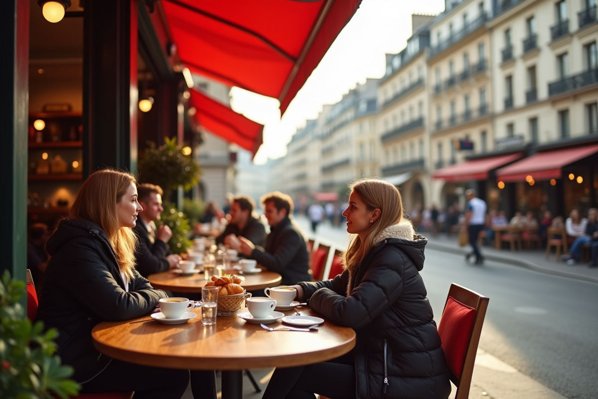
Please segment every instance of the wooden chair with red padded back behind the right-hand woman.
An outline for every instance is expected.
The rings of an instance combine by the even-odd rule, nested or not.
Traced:
[[[449,378],[457,387],[454,399],[467,399],[475,354],[490,299],[457,284],[451,284],[438,324]]]

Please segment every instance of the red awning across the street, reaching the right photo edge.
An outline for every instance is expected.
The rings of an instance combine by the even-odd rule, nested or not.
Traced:
[[[524,181],[530,175],[534,180],[559,179],[563,166],[595,153],[598,153],[598,144],[534,154],[496,170],[496,178],[500,181]]]

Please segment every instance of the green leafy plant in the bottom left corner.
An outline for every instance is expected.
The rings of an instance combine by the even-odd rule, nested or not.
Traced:
[[[41,321],[32,324],[21,305],[25,283],[0,281],[0,397],[3,399],[63,399],[76,396],[80,385],[69,379],[70,366],[56,355],[56,329],[44,333]]]

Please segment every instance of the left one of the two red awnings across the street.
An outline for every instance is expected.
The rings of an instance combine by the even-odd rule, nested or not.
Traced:
[[[457,165],[444,167],[432,173],[432,178],[446,181],[485,180],[488,172],[509,162],[523,157],[523,153],[501,155],[496,157],[471,159]]]

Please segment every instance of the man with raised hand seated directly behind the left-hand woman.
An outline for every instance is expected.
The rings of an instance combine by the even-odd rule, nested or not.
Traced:
[[[172,237],[170,227],[155,227],[154,221],[159,221],[160,212],[164,211],[160,186],[140,184],[137,194],[143,211],[139,212],[138,223],[133,228],[139,237],[138,248],[135,251],[136,269],[140,275],[147,278],[151,274],[174,269],[181,257],[172,254],[168,248],[167,243]]]

